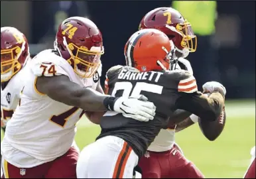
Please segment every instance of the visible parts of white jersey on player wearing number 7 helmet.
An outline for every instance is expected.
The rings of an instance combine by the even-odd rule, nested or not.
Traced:
[[[190,62],[184,58],[178,58],[178,60],[186,66],[188,72],[193,74],[192,67],[190,65]],[[176,64],[175,70],[180,70],[180,66]],[[192,115],[191,115],[192,116]],[[194,118],[194,115],[193,115]],[[159,132],[159,135],[155,138],[153,143],[149,146],[147,150],[153,151],[153,152],[164,152],[167,150],[172,149],[173,145],[175,143],[175,127],[173,129],[161,129]]]

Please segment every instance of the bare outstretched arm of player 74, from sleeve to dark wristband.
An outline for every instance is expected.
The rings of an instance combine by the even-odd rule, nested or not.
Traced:
[[[39,77],[36,88],[56,101],[86,111],[107,111],[109,106],[113,109],[114,97],[90,88],[82,88],[71,82],[67,76]]]

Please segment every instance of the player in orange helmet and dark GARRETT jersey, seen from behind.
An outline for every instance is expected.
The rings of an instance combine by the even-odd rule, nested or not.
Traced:
[[[146,95],[157,106],[154,120],[131,120],[114,111],[103,115],[96,142],[78,159],[78,178],[132,178],[133,168],[176,109],[215,121],[224,107],[225,88],[215,83],[210,96],[198,92],[196,79],[185,70],[168,71],[173,55],[170,40],[156,29],[135,32],[125,45],[127,66],[107,71],[109,94]],[[123,120],[121,120],[123,119]]]

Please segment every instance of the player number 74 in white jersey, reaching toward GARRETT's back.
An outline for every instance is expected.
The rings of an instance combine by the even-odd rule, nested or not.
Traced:
[[[104,51],[92,21],[65,19],[54,46],[33,58],[23,79],[21,101],[1,143],[5,178],[76,178],[74,136],[83,110],[109,109],[139,121],[155,116],[153,103],[138,100],[147,100],[143,95],[118,98],[93,90]]]

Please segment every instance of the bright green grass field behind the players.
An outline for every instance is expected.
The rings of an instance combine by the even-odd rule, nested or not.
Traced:
[[[176,143],[206,178],[243,178],[250,150],[255,146],[255,101],[227,101],[225,109],[225,129],[216,141],[208,141],[198,124],[176,133]],[[81,119],[76,135],[78,147],[82,150],[94,142],[99,132],[97,125]]]

